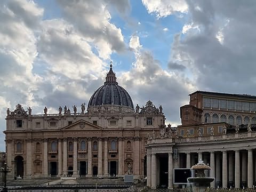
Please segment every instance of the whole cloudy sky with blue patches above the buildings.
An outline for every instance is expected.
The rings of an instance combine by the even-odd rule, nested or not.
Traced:
[[[7,108],[88,103],[110,61],[172,126],[194,91],[256,95],[255,16],[254,0],[0,1],[0,150]]]

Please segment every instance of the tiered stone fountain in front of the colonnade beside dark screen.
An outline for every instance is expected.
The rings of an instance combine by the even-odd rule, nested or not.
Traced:
[[[192,174],[188,182],[193,183],[193,191],[205,191],[205,188],[210,186],[210,183],[214,181],[214,178],[210,177],[210,170],[211,167],[205,165],[202,159],[191,167]]]

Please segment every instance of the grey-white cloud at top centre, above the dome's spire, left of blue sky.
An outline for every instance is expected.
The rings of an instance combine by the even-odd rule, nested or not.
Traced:
[[[63,9],[65,19],[72,23],[84,36],[86,41],[93,42],[98,49],[99,56],[108,59],[114,52],[126,50],[124,37],[120,28],[110,22],[111,15],[105,1],[58,1]],[[112,1],[109,1],[112,2]],[[122,3],[116,5],[122,10]]]

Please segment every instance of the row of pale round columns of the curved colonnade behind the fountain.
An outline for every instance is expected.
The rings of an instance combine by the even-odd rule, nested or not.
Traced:
[[[172,189],[173,169],[188,168],[202,159],[211,166],[210,176],[215,178],[211,183],[212,188],[253,188],[256,173],[256,154],[252,149],[203,151],[199,153],[178,154],[178,159],[173,159],[173,154],[168,153],[168,188]],[[167,153],[165,153],[167,155]],[[159,185],[159,162],[161,153],[147,154],[147,186],[156,188]],[[185,158],[184,158],[185,157]],[[186,167],[182,167],[185,163]]]

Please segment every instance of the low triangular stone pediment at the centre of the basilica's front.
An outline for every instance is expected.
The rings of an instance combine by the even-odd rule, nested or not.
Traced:
[[[61,130],[70,131],[70,130],[102,130],[102,127],[94,125],[90,122],[84,121],[83,119],[72,123],[71,125],[63,127]]]

